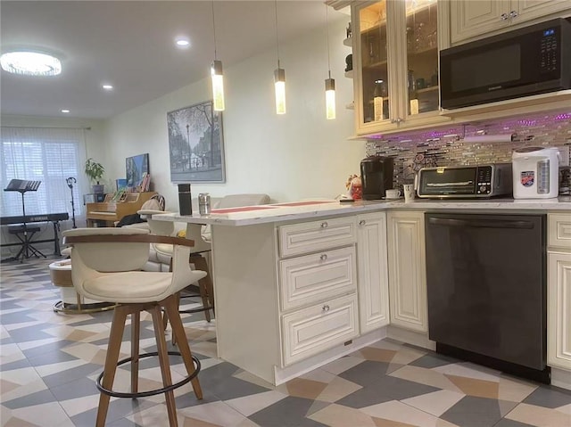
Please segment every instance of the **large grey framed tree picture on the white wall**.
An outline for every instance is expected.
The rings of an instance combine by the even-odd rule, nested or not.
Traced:
[[[212,102],[167,113],[170,180],[173,183],[225,182],[222,114]]]

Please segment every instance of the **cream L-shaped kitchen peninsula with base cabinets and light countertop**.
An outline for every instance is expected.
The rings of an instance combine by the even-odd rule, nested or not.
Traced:
[[[424,212],[446,210],[546,213],[571,223],[571,197],[314,200],[153,219],[211,225],[218,356],[280,384],[386,336],[434,349],[427,335]],[[571,250],[567,222],[563,237]],[[564,343],[567,355],[571,342]],[[571,387],[571,367],[563,362],[555,371]]]

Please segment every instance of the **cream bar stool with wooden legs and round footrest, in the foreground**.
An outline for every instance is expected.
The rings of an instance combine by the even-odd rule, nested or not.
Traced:
[[[138,398],[164,393],[167,401],[169,423],[178,425],[173,390],[192,382],[196,398],[203,398],[198,373],[200,362],[194,357],[186,340],[186,333],[178,313],[177,294],[188,283],[202,279],[206,273],[191,270],[188,263],[193,242],[170,236],[149,234],[140,228],[76,228],[63,232],[63,241],[71,250],[71,277],[79,294],[93,300],[115,302],[109,345],[103,373],[97,379],[101,394],[97,409],[96,427],[103,427],[111,396]],[[149,256],[149,244],[172,246],[172,272],[145,272],[141,267]],[[170,318],[172,334],[178,342],[188,376],[172,384],[169,352],[165,341],[161,310]],[[153,316],[153,326],[158,351],[139,355],[139,321],[141,311]],[[120,345],[127,316],[131,315],[131,357],[119,360]],[[170,353],[172,354],[172,353]],[[158,356],[161,365],[163,388],[139,392],[138,363],[142,357]],[[131,392],[112,390],[117,365],[130,362]],[[103,378],[103,381],[102,381]]]

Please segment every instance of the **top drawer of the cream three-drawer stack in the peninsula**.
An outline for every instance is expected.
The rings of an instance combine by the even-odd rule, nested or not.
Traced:
[[[279,253],[282,257],[331,249],[357,240],[355,217],[280,226],[278,234]]]

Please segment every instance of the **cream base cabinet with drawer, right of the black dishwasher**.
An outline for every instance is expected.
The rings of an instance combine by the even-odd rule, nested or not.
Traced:
[[[571,218],[548,215],[547,363],[571,371]]]

